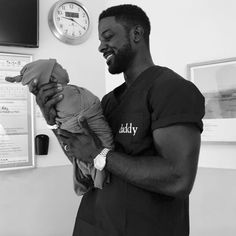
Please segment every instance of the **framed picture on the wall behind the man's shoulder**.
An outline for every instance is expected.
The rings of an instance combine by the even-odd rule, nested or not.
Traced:
[[[236,142],[236,58],[189,64],[187,70],[205,97],[202,141]]]

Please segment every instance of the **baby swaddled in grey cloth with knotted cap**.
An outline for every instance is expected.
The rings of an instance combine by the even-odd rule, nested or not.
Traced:
[[[61,93],[64,98],[55,107],[58,127],[72,133],[80,132],[79,119],[83,116],[89,127],[100,138],[103,146],[112,149],[112,133],[103,116],[100,100],[87,89],[68,84],[67,71],[55,59],[28,63],[22,68],[20,75],[6,77],[6,81],[30,85],[34,79],[38,79],[38,86],[40,86],[49,83],[52,78],[56,78],[58,83],[63,86]],[[62,143],[60,144],[63,146]],[[70,157],[69,153],[68,157]],[[105,170],[96,170],[93,164],[84,163],[73,157],[72,163],[74,189],[78,195],[83,195],[93,187],[102,188],[105,183],[109,182],[109,175]]]

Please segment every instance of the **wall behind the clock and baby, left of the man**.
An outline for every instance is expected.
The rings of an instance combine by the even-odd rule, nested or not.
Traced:
[[[90,12],[93,29],[88,41],[77,46],[61,43],[48,27],[47,14],[56,0],[39,2],[39,48],[0,46],[0,52],[32,54],[35,60],[56,58],[68,70],[71,83],[86,87],[99,97],[104,95],[104,62],[97,50],[97,19],[105,8],[105,0],[80,0]],[[73,191],[72,168],[52,132],[36,119],[35,133],[41,132],[50,136],[50,146],[47,156],[37,156],[37,166],[50,167],[0,172],[2,236],[72,234],[80,203]]]

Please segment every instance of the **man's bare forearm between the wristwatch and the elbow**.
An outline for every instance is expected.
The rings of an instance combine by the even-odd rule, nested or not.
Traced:
[[[176,196],[181,175],[160,156],[129,156],[109,152],[106,168],[127,182],[149,191]]]

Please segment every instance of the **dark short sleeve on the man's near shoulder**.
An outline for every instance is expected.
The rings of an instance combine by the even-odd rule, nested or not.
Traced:
[[[178,123],[192,123],[203,131],[205,101],[198,88],[172,72],[163,73],[149,92],[152,130]]]

